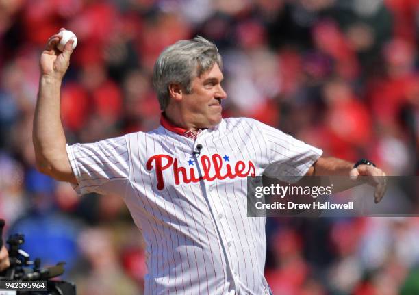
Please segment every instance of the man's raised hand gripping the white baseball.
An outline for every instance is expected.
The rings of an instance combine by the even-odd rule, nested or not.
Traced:
[[[62,28],[60,31],[64,31]],[[47,45],[40,57],[40,70],[42,76],[48,76],[54,79],[61,80],[70,65],[70,55],[73,52],[73,40],[69,40],[64,46],[64,51],[61,52],[57,48],[60,42],[60,34],[55,34],[48,39]]]

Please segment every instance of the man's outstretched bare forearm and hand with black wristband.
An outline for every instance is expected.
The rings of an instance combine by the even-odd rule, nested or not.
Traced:
[[[338,191],[364,183],[359,181],[359,176],[365,177],[366,181],[375,187],[375,203],[381,201],[386,188],[385,172],[367,160],[355,164],[335,157],[319,157],[309,168],[306,176],[348,176],[348,181],[340,181],[341,185],[337,189]]]

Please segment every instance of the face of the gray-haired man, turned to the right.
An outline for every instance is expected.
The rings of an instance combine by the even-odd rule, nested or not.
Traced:
[[[183,94],[185,118],[194,127],[210,128],[221,122],[221,100],[227,97],[221,81],[223,73],[215,63],[210,70],[192,79],[190,94]]]

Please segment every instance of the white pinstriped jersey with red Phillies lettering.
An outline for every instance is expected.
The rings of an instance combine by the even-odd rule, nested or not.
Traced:
[[[246,177],[301,177],[322,151],[249,118],[179,133],[68,146],[77,192],[123,196],[147,242],[145,294],[269,294],[266,218],[247,217]]]

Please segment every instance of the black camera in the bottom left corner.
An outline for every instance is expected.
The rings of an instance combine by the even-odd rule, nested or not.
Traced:
[[[0,219],[0,248],[3,246],[2,231],[4,220]],[[67,281],[51,280],[64,273],[64,262],[55,266],[46,268],[41,267],[39,258],[31,261],[29,254],[21,249],[25,242],[25,236],[22,234],[10,235],[7,240],[10,267],[0,272],[1,281],[19,282],[21,285],[25,281],[47,281],[47,291],[20,291],[16,290],[18,295],[76,295],[74,283]],[[1,289],[1,287],[0,287]]]

